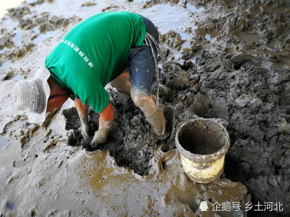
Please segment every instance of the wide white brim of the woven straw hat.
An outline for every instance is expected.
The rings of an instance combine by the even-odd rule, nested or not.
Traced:
[[[26,112],[26,115],[28,117],[28,120],[30,123],[42,123],[45,120],[46,115],[46,108],[47,108],[47,101],[50,95],[50,88],[47,82],[47,79],[50,76],[50,72],[45,67],[40,67],[37,69],[35,78],[38,78],[40,82],[43,84],[43,92],[44,92],[44,98],[45,98],[45,108],[42,113],[33,113],[33,112]]]

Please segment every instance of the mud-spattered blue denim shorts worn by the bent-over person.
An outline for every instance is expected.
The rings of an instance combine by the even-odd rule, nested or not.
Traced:
[[[146,32],[151,34],[156,42],[159,43],[159,33],[155,25],[148,18],[140,16],[145,23]],[[157,59],[157,49],[155,46],[153,46],[153,50]],[[131,88],[140,91],[142,96],[151,95],[155,64],[150,45],[131,47],[129,50],[128,67],[131,74]]]

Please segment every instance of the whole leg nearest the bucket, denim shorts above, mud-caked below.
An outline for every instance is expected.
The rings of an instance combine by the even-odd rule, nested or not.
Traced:
[[[146,32],[151,34],[157,43],[159,34],[154,24],[145,17]],[[157,50],[153,46],[157,58]],[[131,71],[131,98],[146,117],[146,120],[153,126],[157,135],[164,135],[166,120],[160,106],[155,108],[155,101],[152,97],[152,84],[155,74],[155,64],[151,47],[144,45],[131,48],[129,51],[128,66]]]

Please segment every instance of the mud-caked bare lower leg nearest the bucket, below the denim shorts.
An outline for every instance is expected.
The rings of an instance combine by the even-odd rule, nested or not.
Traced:
[[[164,135],[166,127],[164,113],[160,106],[155,108],[155,101],[152,95],[144,96],[144,92],[142,90],[132,87],[131,98],[134,104],[144,112],[146,120],[153,126],[156,135]]]

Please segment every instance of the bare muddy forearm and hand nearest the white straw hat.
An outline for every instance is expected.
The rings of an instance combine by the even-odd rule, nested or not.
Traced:
[[[75,107],[77,108],[77,112],[79,113],[79,119],[81,120],[81,134],[84,137],[89,137],[90,125],[88,122],[88,111],[89,106],[84,105],[81,100],[75,98],[74,100]]]

